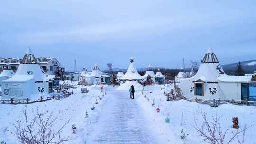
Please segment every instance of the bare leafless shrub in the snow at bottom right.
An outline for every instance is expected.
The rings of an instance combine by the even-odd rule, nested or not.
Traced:
[[[194,121],[195,121],[195,130],[198,132],[198,134],[203,137],[203,140],[205,142],[208,142],[209,144],[230,144],[235,138],[238,139],[238,143],[242,144],[241,141],[239,141],[238,134],[245,132],[249,127],[244,127],[242,130],[236,130],[232,131],[232,136],[227,138],[227,134],[229,131],[229,128],[223,130],[220,126],[220,117],[216,116],[212,117],[213,121],[209,122],[206,113],[202,112],[202,118],[203,118],[203,124],[201,127],[198,126],[195,116],[194,116]],[[226,140],[227,139],[227,140]]]

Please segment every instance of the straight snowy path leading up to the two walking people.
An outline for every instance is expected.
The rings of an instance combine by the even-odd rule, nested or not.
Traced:
[[[127,91],[107,91],[110,101],[101,111],[87,144],[160,144],[135,99]]]

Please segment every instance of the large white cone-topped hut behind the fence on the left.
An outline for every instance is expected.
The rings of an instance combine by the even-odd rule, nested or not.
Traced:
[[[27,99],[48,96],[43,73],[31,49],[27,49],[15,75],[2,81],[2,99]]]

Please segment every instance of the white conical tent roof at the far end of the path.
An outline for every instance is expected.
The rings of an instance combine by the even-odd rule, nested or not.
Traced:
[[[138,74],[136,68],[134,67],[134,59],[131,57],[130,65],[126,71],[126,73],[120,77],[120,80],[141,80],[144,79],[141,75]]]

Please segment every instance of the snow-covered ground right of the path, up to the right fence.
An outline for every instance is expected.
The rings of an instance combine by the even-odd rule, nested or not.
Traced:
[[[159,137],[166,140],[165,144],[183,144],[180,138],[181,129],[189,134],[186,137],[185,144],[198,144],[202,142],[203,138],[199,137],[196,130],[193,128],[193,126],[195,126],[194,117],[198,125],[202,126],[202,112],[207,113],[209,121],[212,121],[212,117],[215,117],[216,114],[219,117],[223,114],[220,119],[220,124],[223,131],[229,128],[227,138],[232,136],[232,131],[235,132],[235,129],[232,128],[232,117],[239,118],[241,129],[244,128],[244,126],[252,125],[252,127],[245,132],[244,144],[256,144],[256,132],[254,130],[256,126],[256,107],[223,104],[214,108],[209,105],[192,103],[185,100],[166,101],[163,90],[160,89],[161,87],[156,85],[145,87],[144,94],[146,94],[146,98],[141,93],[137,94],[137,97],[139,97],[137,103],[140,104],[141,108],[144,110],[144,114],[152,122],[150,125],[152,130],[156,131]],[[171,88],[169,87],[168,89]],[[153,91],[153,93],[150,94],[146,91]],[[152,106],[153,99],[155,99],[154,106]],[[158,106],[160,113],[156,112]],[[165,123],[167,114],[169,114],[170,123]],[[242,134],[240,135],[242,139]],[[201,144],[208,143],[202,142]],[[238,144],[238,142],[234,141],[231,144]]]

